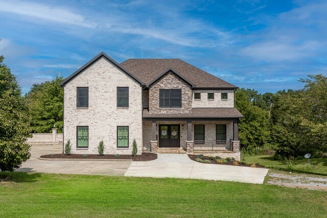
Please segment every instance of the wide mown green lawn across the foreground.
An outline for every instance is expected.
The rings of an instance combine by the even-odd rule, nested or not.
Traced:
[[[323,217],[327,193],[190,179],[0,173],[0,217]]]

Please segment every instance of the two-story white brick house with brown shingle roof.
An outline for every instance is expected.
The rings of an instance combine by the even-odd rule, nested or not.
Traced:
[[[237,89],[180,59],[128,59],[100,53],[66,78],[64,143],[73,154],[170,150],[240,159]]]

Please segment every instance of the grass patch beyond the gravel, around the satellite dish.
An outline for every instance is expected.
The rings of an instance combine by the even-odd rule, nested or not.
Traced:
[[[259,163],[260,165],[269,168],[292,171],[295,173],[307,173],[327,176],[327,158],[310,159],[310,165],[308,164],[308,159],[294,160],[292,165],[288,165],[286,160],[273,160],[273,157],[270,155],[245,155],[242,158],[244,158],[244,160],[249,163]]]

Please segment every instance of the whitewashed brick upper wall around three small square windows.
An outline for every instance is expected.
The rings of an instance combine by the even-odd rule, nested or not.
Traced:
[[[228,100],[221,100],[221,93],[228,93]],[[194,93],[201,93],[201,99],[195,100]],[[215,99],[208,100],[208,93],[214,93]],[[234,107],[234,90],[233,89],[193,89],[192,90],[192,107],[193,108],[233,108]]]

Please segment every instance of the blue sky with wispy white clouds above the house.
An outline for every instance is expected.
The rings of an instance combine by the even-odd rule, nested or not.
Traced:
[[[239,87],[327,72],[327,1],[3,1],[0,55],[23,92],[105,52],[180,58]]]

